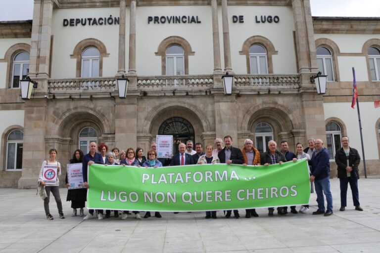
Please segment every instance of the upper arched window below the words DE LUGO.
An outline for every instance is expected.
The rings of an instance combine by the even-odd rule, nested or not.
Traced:
[[[262,45],[253,44],[249,47],[249,66],[251,74],[268,74],[267,50]]]

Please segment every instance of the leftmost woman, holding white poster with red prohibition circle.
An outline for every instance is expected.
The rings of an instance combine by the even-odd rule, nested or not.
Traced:
[[[58,176],[61,175],[61,164],[55,160],[56,157],[57,157],[57,150],[50,149],[49,160],[46,160],[42,163],[40,175],[38,178],[38,181],[41,183],[41,185],[45,186],[47,197],[44,200],[44,208],[45,208],[46,218],[49,220],[53,219],[53,216],[50,214],[50,211],[49,211],[50,192],[53,194],[55,202],[57,203],[59,218],[61,219],[65,218],[65,215],[63,214],[63,211],[62,211],[61,197],[59,196]],[[56,177],[55,183],[47,184],[46,183],[47,177],[51,179],[54,179]]]

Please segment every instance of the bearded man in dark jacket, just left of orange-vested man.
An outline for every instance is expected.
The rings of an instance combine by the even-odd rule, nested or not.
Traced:
[[[232,137],[227,135],[224,137],[224,148],[219,151],[218,157],[221,164],[243,164],[244,158],[241,150],[232,146]],[[226,218],[231,217],[231,210],[227,211]],[[239,211],[234,210],[235,218],[239,218]]]

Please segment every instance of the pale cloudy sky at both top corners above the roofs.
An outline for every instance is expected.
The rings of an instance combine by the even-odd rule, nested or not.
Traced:
[[[33,19],[34,0],[0,0],[0,21]],[[310,0],[313,16],[380,17],[380,0]]]

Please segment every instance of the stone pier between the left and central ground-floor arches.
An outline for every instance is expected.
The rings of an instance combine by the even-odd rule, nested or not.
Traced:
[[[115,100],[115,146],[137,146],[137,96]],[[126,146],[127,145],[127,146]]]

